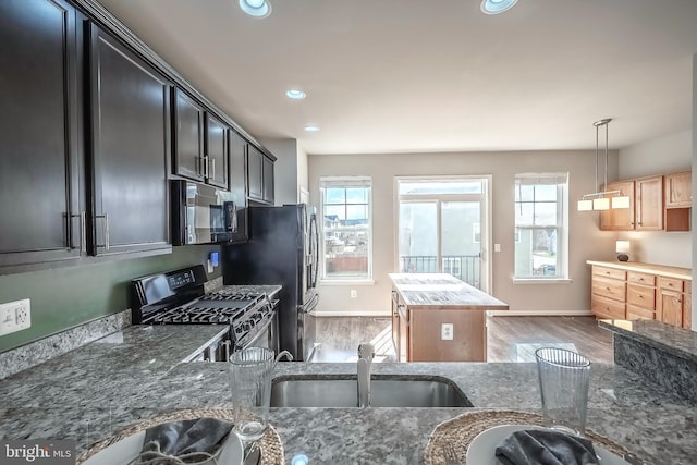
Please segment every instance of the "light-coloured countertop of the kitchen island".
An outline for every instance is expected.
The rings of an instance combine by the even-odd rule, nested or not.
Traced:
[[[509,305],[445,273],[390,273],[409,309],[508,310]]]

